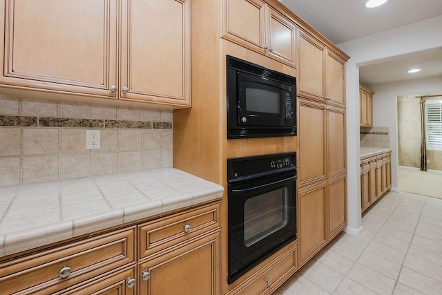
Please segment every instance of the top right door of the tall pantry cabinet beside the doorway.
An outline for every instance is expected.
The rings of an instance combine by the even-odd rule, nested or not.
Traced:
[[[327,49],[325,58],[327,80],[326,97],[329,102],[340,107],[345,107],[345,60]]]

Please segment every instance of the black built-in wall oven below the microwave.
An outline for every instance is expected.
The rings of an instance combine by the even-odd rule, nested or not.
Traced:
[[[233,283],[296,239],[296,153],[227,159]]]

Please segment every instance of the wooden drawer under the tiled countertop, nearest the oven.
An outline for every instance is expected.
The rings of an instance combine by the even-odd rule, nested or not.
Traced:
[[[146,222],[138,226],[139,258],[177,245],[217,227],[220,227],[219,202]]]

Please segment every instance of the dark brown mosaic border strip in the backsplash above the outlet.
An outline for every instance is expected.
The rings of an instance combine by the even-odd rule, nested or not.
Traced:
[[[171,122],[144,122],[129,120],[72,119],[60,117],[25,117],[0,115],[0,126],[117,128],[117,129],[172,129]]]

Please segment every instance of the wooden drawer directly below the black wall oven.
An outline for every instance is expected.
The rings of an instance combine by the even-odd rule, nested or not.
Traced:
[[[287,275],[291,275],[296,270],[296,248],[291,249],[280,256],[280,258],[269,267],[264,273],[251,281],[246,287],[240,289],[236,294],[267,294],[273,292],[279,287]],[[269,294],[270,294],[269,293]]]

